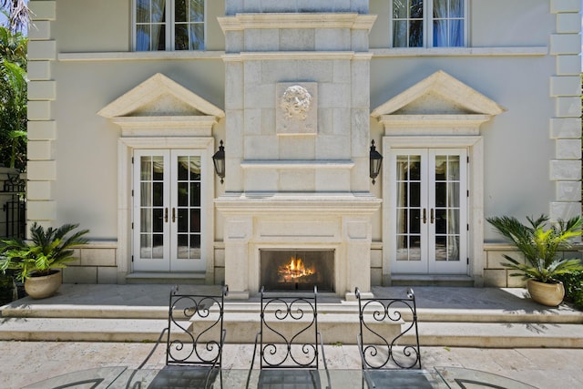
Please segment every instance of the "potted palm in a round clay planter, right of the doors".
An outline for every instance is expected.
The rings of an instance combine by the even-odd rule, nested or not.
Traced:
[[[548,306],[561,303],[565,288],[562,282],[557,281],[557,275],[583,270],[583,265],[578,259],[563,258],[559,254],[571,247],[573,238],[581,235],[583,218],[576,216],[569,220],[557,220],[548,227],[546,215],[537,219],[527,217],[527,224],[508,216],[486,220],[514,244],[526,260],[518,261],[504,255],[508,262],[503,265],[518,271],[510,275],[522,276],[527,280],[528,293],[535,302]]]

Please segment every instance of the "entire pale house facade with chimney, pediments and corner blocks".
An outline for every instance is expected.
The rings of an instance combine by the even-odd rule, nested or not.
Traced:
[[[244,298],[261,249],[333,249],[350,298],[394,276],[392,150],[459,148],[471,160],[463,273],[516,285],[486,217],[580,213],[580,2],[499,3],[468,2],[464,47],[395,48],[385,0],[209,0],[206,51],[136,52],[128,4],[32,0],[28,222],[91,230],[66,282],[127,282],[133,151],[197,149],[212,167],[223,140],[200,279]],[[293,86],[314,110],[285,124],[281,88]],[[147,102],[130,93],[140,87],[169,96]],[[371,140],[384,155],[376,185]]]

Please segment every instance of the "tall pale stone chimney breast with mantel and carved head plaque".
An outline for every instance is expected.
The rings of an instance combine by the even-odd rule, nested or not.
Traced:
[[[350,8],[365,14],[363,3]],[[216,200],[230,296],[259,292],[259,252],[274,248],[332,249],[336,292],[368,292],[371,216],[380,206],[367,194],[374,17],[331,12],[332,2],[312,2],[315,14],[281,2],[261,2],[261,14],[257,5],[230,5],[234,15],[220,25],[232,179]],[[281,100],[294,89],[303,107],[288,115]]]

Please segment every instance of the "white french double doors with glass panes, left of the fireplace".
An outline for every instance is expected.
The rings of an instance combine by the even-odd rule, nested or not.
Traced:
[[[133,270],[204,271],[199,150],[134,150]]]

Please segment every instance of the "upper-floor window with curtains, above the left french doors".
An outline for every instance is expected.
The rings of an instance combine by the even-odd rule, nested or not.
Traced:
[[[134,50],[204,50],[206,0],[133,0]]]

